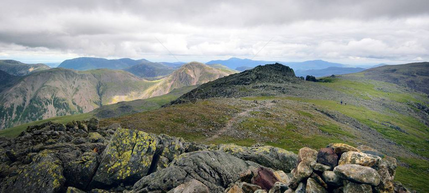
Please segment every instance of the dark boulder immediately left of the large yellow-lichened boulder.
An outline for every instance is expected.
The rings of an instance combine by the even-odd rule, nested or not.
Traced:
[[[65,163],[64,177],[68,186],[86,189],[98,167],[97,153],[85,152],[79,159]]]

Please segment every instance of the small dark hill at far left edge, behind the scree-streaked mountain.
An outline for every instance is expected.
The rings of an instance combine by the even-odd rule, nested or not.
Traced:
[[[47,69],[50,67],[45,64],[24,64],[16,60],[0,60],[0,70],[15,76],[25,76]]]

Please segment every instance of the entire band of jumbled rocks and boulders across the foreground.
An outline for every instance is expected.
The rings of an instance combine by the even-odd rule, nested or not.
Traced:
[[[30,126],[0,138],[6,193],[408,193],[395,158],[369,146],[329,144],[298,155],[256,144],[206,145],[100,127],[97,119]]]

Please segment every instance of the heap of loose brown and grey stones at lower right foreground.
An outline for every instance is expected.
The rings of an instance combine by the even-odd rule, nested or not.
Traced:
[[[301,148],[289,174],[250,168],[224,193],[410,193],[394,184],[397,161],[366,145],[334,143],[318,151]]]

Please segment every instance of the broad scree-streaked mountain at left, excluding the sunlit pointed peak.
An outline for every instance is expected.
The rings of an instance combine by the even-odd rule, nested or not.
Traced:
[[[125,71],[106,69],[55,68],[33,73],[0,93],[0,128],[138,99],[152,84]]]

